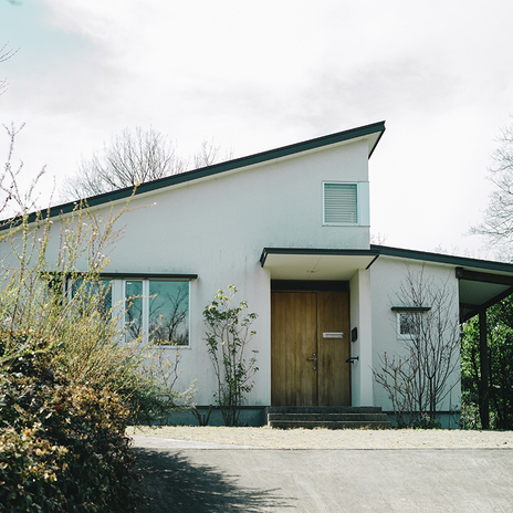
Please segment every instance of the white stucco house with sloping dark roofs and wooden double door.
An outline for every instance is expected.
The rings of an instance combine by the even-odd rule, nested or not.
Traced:
[[[229,284],[259,315],[253,412],[268,406],[390,411],[373,370],[385,353],[404,354],[411,312],[432,307],[407,304],[408,278],[443,287],[453,321],[512,292],[513,265],[369,243],[368,161],[384,132],[376,123],[139,186],[104,278],[113,302],[143,296],[130,314],[137,329],[180,312],[171,342],[182,355],[181,386],[197,379],[198,405],[211,404],[216,390],[202,311]],[[102,212],[130,193],[87,202]],[[73,207],[52,208],[54,223]],[[457,418],[461,405],[456,367],[441,406],[447,418]]]

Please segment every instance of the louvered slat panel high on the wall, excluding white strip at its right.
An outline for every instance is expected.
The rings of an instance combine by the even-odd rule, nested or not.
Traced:
[[[324,184],[324,224],[356,224],[357,222],[357,185]]]

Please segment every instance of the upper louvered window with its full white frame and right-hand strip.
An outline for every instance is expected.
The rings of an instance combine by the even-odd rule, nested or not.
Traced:
[[[368,226],[368,182],[323,182],[324,226]]]

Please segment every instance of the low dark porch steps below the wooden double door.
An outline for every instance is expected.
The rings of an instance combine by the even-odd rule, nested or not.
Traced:
[[[268,426],[279,429],[390,429],[387,415],[377,407],[287,407],[266,408]]]

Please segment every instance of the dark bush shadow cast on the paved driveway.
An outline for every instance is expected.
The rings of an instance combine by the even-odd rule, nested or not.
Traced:
[[[191,464],[180,452],[133,448],[140,491],[146,495],[139,513],[283,511],[291,507],[278,490],[242,489],[237,475],[213,467]],[[290,498],[289,498],[290,500]],[[294,507],[294,506],[292,506]]]

